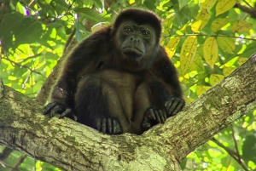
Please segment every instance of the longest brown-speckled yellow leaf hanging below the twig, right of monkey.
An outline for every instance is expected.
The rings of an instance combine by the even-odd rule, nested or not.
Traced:
[[[193,62],[195,58],[195,53],[197,49],[197,37],[189,36],[185,39],[181,53],[180,53],[180,64],[181,69],[183,71],[183,75],[185,71],[188,70],[189,66]]]

